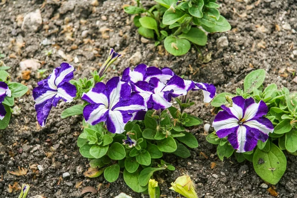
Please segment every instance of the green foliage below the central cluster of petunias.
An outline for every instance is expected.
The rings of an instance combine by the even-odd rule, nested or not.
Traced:
[[[186,132],[185,127],[201,123],[199,118],[175,107],[170,107],[169,112],[149,110],[144,121],[128,122],[123,134],[112,134],[101,123],[92,126],[84,122],[84,132],[79,136],[77,146],[80,153],[89,158],[92,168],[102,170],[99,172],[108,182],[116,181],[120,169],[124,169],[126,184],[141,193],[147,191],[154,172],[175,169],[161,159],[163,154],[187,158],[190,156],[188,148],[198,147],[197,139]],[[135,144],[123,144],[127,139]]]

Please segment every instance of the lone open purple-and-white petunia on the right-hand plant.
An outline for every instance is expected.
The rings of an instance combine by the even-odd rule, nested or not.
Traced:
[[[268,112],[264,101],[255,103],[254,99],[244,99],[241,96],[232,98],[232,107],[222,105],[212,126],[219,138],[228,136],[237,152],[250,151],[258,140],[267,141],[269,133],[273,132],[273,124],[263,117]]]

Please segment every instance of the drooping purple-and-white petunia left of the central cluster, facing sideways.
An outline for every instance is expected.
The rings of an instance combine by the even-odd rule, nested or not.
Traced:
[[[38,82],[38,87],[33,89],[37,120],[42,127],[46,125],[52,106],[57,106],[60,99],[71,102],[75,98],[76,87],[69,83],[74,70],[72,65],[63,62],[53,69],[48,79]]]

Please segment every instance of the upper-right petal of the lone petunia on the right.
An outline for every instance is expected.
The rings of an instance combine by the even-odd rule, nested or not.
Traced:
[[[257,119],[259,117],[262,117],[263,115],[266,115],[267,112],[268,112],[268,107],[264,101],[261,100],[259,103],[250,102],[249,105],[246,105],[244,120],[249,121],[249,120]]]

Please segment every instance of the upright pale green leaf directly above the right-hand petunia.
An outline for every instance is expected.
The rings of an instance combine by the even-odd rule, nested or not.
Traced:
[[[257,69],[247,74],[244,81],[245,93],[251,93],[253,89],[258,89],[265,80],[265,70]]]

